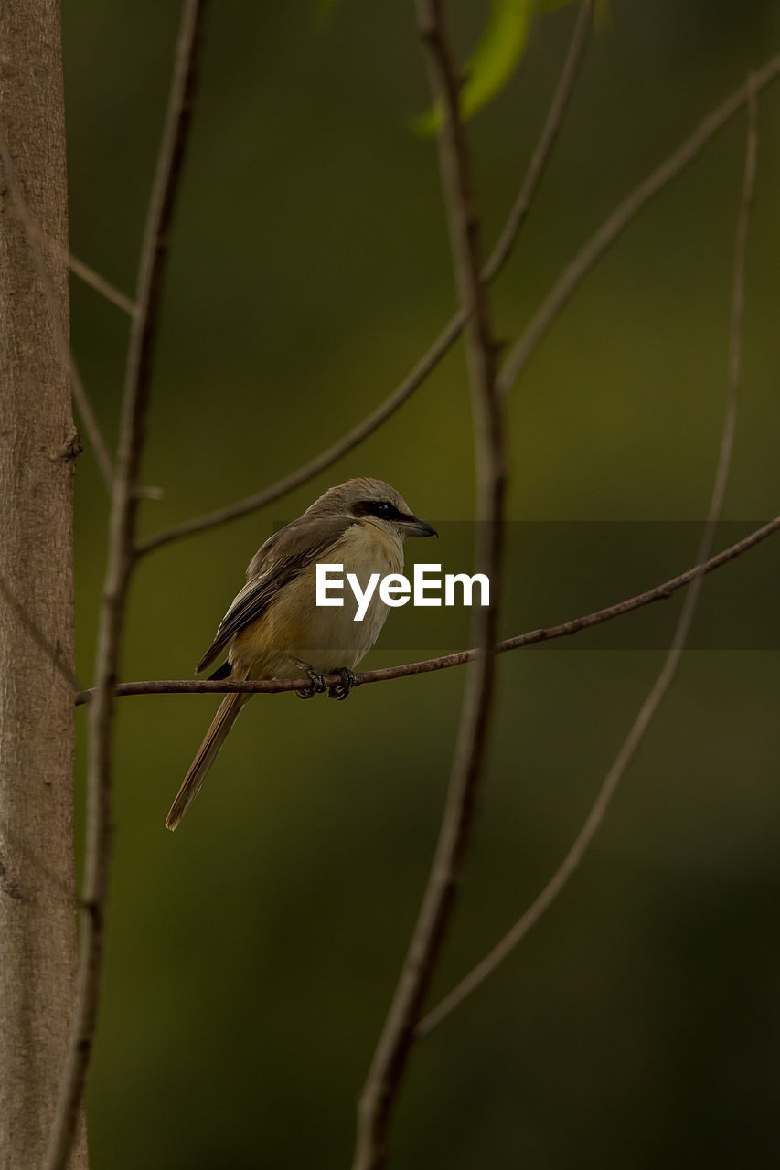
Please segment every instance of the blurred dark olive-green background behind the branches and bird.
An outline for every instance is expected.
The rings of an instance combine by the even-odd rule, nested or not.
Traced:
[[[465,58],[486,6],[450,8]],[[126,290],[178,11],[172,0],[63,5],[73,249]],[[516,76],[470,125],[488,243],[573,16],[569,7],[536,21]],[[495,284],[501,336],[516,335],[628,190],[779,48],[773,0],[611,0],[527,232]],[[427,102],[411,4],[341,0],[328,20],[306,2],[213,5],[144,467],[165,496],[143,505],[144,535],[255,491],[336,439],[450,315],[436,151],[409,130]],[[719,546],[778,510],[776,87],[761,97],[760,126],[726,508],[734,524]],[[654,524],[646,546],[632,522],[695,522],[706,510],[744,140],[737,118],[630,228],[515,387],[511,517],[534,523],[512,526],[506,633],[609,604],[692,562],[696,524],[669,524],[669,544]],[[114,438],[126,322],[75,283],[73,326]],[[446,542],[473,515],[460,349],[315,482],[144,560],[124,677],[189,677],[274,524],[356,474],[389,480],[442,524],[435,558],[430,545],[410,555],[465,567]],[[631,522],[632,543],[589,541],[588,525],[616,521]],[[567,523],[553,541],[536,522]],[[105,523],[87,452],[76,534],[83,679]],[[415,1052],[394,1166],[778,1164],[778,567],[765,545],[707,579],[707,634],[695,632],[582,869]],[[479,821],[435,997],[563,856],[661,666],[677,607],[657,607],[651,626],[624,618],[602,641],[501,660]],[[391,615],[367,662],[424,653],[419,631],[404,646],[403,620]],[[433,649],[466,641],[463,622],[431,626]],[[435,844],[463,684],[452,670],[367,687],[344,704],[254,700],[173,837],[163,819],[215,701],[121,701],[88,1095],[96,1170],[349,1164],[356,1095]],[[78,721],[83,735],[83,711]]]

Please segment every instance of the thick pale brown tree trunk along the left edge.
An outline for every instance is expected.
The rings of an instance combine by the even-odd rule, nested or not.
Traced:
[[[29,214],[67,248],[57,0],[0,0],[0,133]],[[67,268],[47,254],[42,278],[6,172],[0,166],[0,1166],[39,1170],[76,969],[67,672],[78,442],[62,344]],[[71,1166],[85,1165],[82,1126]]]

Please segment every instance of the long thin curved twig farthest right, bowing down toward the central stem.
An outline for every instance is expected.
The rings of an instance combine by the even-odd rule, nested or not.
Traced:
[[[712,551],[718,521],[723,512],[728,469],[734,446],[734,431],[737,425],[737,406],[739,397],[739,381],[741,367],[743,346],[743,307],[745,301],[745,257],[747,252],[747,236],[750,230],[751,209],[753,205],[753,193],[755,190],[755,164],[758,157],[758,121],[755,109],[755,94],[752,91],[752,80],[748,78],[748,90],[751,96],[747,105],[747,147],[745,153],[745,173],[743,180],[743,193],[737,223],[737,240],[734,245],[734,267],[731,294],[731,321],[728,330],[728,390],[726,395],[726,411],[724,415],[723,432],[720,436],[720,450],[716,468],[712,495],[707,519],[704,525],[699,549],[697,553],[697,567],[693,571],[691,589],[685,596],[685,601],[680,611],[672,644],[669,654],[664,660],[658,677],[656,679],[648,697],[642,703],[639,711],[631,725],[631,729],[623,742],[615,763],[608,771],[604,782],[598,791],[596,800],[588,813],[588,817],[577,833],[572,848],[559,866],[555,874],[547,882],[535,901],[528,907],[521,918],[512,927],[504,938],[490,951],[458,985],[439,1003],[432,1011],[420,1020],[417,1026],[417,1035],[427,1035],[439,1025],[463,1000],[471,994],[495,968],[514,950],[514,948],[526,937],[528,931],[539,922],[540,917],[549,909],[559,896],[566,883],[569,881],[580,862],[582,861],[594,837],[598,832],[607,814],[609,804],[615,791],[631,763],[634,755],[650,725],[650,722],[658,710],[669,687],[677,673],[683,651],[691,631],[693,614],[702,592],[704,573],[707,572],[707,557]]]

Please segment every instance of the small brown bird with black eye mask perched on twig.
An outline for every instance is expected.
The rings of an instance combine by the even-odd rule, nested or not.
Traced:
[[[223,618],[217,636],[196,668],[199,674],[227,649],[227,662],[212,679],[295,679],[308,674],[309,698],[326,690],[323,675],[340,674],[334,698],[345,698],[354,668],[374,646],[388,617],[375,590],[362,621],[349,591],[343,606],[317,606],[317,564],[341,564],[364,591],[371,573],[399,573],[404,537],[436,536],[401,495],[382,480],[348,480],[269,537],[247,569],[247,581]],[[331,594],[333,596],[333,594]],[[194,800],[206,772],[252,696],[226,695],[184,777],[165,824],[176,828]]]

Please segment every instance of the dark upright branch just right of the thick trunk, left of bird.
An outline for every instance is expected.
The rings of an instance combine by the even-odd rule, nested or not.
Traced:
[[[176,197],[182,179],[198,78],[204,0],[185,0],[163,140],[157,160],[138,275],[138,311],[132,319],[117,467],[109,523],[109,552],[90,707],[87,772],[88,808],[78,986],[70,1045],[52,1130],[47,1170],[66,1170],[78,1117],[97,1024],[105,908],[111,854],[114,686],[119,669],[126,599],[135,563],[138,475],[163,278]]]

